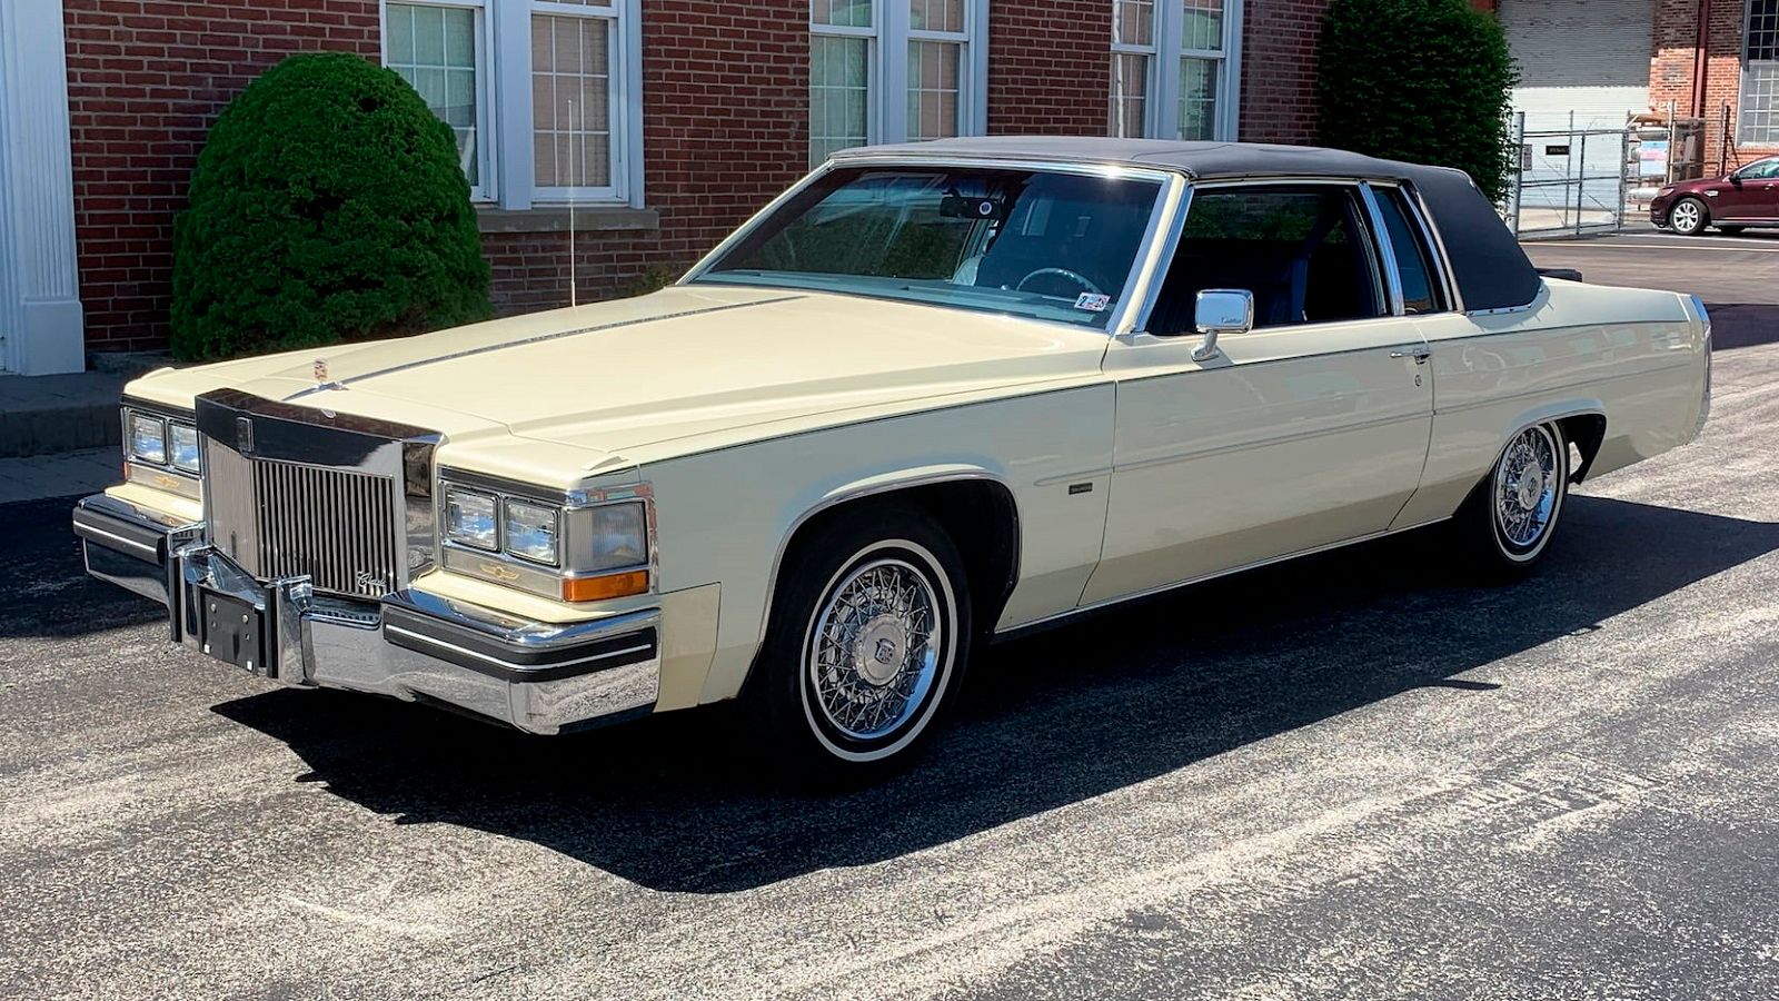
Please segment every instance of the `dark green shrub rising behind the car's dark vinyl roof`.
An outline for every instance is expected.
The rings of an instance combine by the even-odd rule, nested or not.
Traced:
[[[1322,20],[1322,144],[1457,167],[1493,201],[1516,166],[1507,36],[1469,0],[1334,0]]]

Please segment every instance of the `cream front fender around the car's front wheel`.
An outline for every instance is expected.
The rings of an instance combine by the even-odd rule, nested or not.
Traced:
[[[660,709],[740,691],[779,557],[808,513],[902,483],[1005,484],[1019,517],[1019,577],[998,625],[1073,609],[1105,534],[1112,408],[1112,385],[1091,383],[644,463],[655,488],[660,590],[722,584],[708,675],[664,679],[664,693],[687,695]],[[1082,483],[1091,490],[1069,492]]]

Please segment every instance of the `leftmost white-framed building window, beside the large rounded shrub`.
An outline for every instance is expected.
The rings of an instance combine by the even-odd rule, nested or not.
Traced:
[[[386,0],[384,64],[457,134],[471,198],[640,203],[637,20],[639,0]]]

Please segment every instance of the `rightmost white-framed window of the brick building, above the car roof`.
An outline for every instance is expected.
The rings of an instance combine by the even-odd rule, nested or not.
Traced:
[[[1242,0],[1112,0],[1117,137],[1235,139]]]

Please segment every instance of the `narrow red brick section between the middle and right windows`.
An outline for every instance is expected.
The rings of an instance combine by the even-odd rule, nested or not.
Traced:
[[[1105,135],[1110,102],[1108,0],[989,4],[989,134]]]

